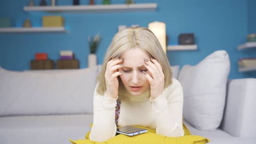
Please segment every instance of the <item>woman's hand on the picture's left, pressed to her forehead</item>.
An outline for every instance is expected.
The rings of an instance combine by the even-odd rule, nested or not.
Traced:
[[[123,65],[119,64],[123,62],[123,58],[113,58],[107,63],[105,71],[105,81],[107,87],[107,97],[116,99],[118,98],[118,76],[123,74],[123,71],[118,71]]]

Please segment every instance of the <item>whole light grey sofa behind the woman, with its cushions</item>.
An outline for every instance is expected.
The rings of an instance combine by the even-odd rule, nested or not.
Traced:
[[[229,66],[209,64],[209,62],[223,64],[219,60],[226,58],[225,61],[229,65],[229,59],[223,53],[226,52],[221,51],[217,53],[218,55],[215,53],[213,57],[208,56],[193,67],[187,65],[180,70],[178,66],[172,66],[173,76],[182,83],[184,88],[184,123],[192,135],[207,137],[211,140],[210,143],[256,143],[256,124],[254,123],[256,121],[254,115],[256,112],[254,105],[256,102],[256,79],[227,81],[226,75],[229,73]],[[213,61],[213,59],[215,60]],[[224,75],[225,80],[219,80],[214,76],[212,77],[214,80],[216,79],[215,83],[214,80],[207,82],[207,79],[195,79],[198,77],[193,73],[196,72],[203,77],[201,73],[207,72],[205,71],[207,65],[226,67],[224,68],[225,74],[223,69],[209,69],[222,71],[217,77]],[[202,69],[202,67],[205,68]],[[19,72],[0,67],[0,143],[70,143],[68,139],[84,139],[92,123],[92,94],[100,69],[101,66],[98,65],[93,68],[77,70],[28,70]],[[211,75],[208,74],[208,76]],[[194,83],[193,80],[198,80],[199,83]],[[215,122],[211,122],[211,120],[215,116],[208,120],[207,113],[199,116],[197,116],[198,113],[192,115],[193,112],[190,110],[193,110],[195,105],[201,106],[201,104],[191,105],[188,99],[190,95],[195,94],[197,96],[198,93],[193,93],[193,89],[196,92],[203,91],[201,97],[213,94],[214,92],[211,92],[208,87],[219,87],[216,86],[219,81],[225,82],[219,83],[222,86],[219,91],[225,89],[223,91],[224,96],[221,97],[224,101],[217,101],[217,106],[223,104],[223,109],[220,108],[219,110],[222,115],[218,118],[221,121],[220,126],[218,124],[214,126],[213,123]],[[201,85],[201,89],[193,87],[194,84]],[[208,89],[202,88],[202,86],[206,86]],[[207,102],[205,103],[207,104]],[[207,110],[208,105],[211,106],[207,104],[200,109],[206,112],[212,111]],[[195,122],[195,119],[200,116],[202,117]],[[201,120],[209,121],[206,124],[207,127],[213,125],[217,129],[204,130],[205,128],[201,127],[203,125]]]

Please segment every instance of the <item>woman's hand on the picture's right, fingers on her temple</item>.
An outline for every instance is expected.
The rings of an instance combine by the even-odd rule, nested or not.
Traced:
[[[151,99],[153,100],[164,92],[165,75],[160,63],[154,58],[150,58],[150,60],[151,61],[144,59],[145,67],[148,69],[149,73],[145,71],[143,71],[143,73],[150,83]]]

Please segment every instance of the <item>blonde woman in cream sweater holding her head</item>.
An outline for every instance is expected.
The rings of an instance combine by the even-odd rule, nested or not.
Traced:
[[[115,34],[97,81],[91,140],[106,141],[127,125],[184,135],[182,86],[172,78],[166,54],[148,28]]]

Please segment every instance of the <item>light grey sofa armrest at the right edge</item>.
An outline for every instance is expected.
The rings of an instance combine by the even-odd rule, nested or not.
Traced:
[[[220,129],[232,136],[256,137],[256,79],[228,81]]]

